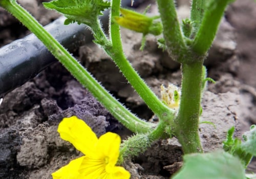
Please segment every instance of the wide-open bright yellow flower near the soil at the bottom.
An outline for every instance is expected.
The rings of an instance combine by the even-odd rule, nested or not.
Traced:
[[[115,166],[119,157],[120,137],[107,132],[99,139],[92,129],[76,116],[64,118],[59,126],[60,138],[72,143],[85,156],[71,161],[52,173],[53,179],[126,179],[131,174]]]

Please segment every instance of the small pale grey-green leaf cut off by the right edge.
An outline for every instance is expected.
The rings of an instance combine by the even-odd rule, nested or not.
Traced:
[[[250,131],[247,131],[243,135],[245,142],[241,144],[241,148],[256,156],[256,125],[251,125]]]

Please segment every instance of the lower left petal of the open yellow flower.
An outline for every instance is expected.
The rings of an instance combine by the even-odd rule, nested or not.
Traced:
[[[79,179],[78,169],[84,159],[84,156],[71,161],[68,165],[61,167],[52,173],[53,179]]]

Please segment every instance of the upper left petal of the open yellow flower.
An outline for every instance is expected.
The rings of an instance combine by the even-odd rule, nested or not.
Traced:
[[[98,138],[92,129],[76,116],[64,118],[58,126],[60,138],[72,143],[83,154],[94,153]]]

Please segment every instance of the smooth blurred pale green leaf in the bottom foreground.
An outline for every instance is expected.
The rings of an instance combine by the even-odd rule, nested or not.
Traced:
[[[173,179],[245,179],[244,168],[238,158],[224,152],[184,155],[184,165]]]

